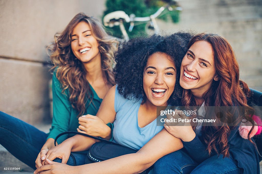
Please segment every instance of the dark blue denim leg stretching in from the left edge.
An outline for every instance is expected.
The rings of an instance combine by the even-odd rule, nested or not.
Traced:
[[[35,160],[47,134],[0,111],[0,144],[23,163],[35,168]]]

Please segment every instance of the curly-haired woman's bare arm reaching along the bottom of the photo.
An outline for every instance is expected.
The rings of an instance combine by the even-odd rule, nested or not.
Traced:
[[[165,129],[160,131],[137,153],[127,154],[99,163],[74,166],[74,173],[140,173],[152,166],[162,156],[183,147],[180,139],[169,134]],[[62,164],[42,166],[37,172],[44,170],[62,171]]]

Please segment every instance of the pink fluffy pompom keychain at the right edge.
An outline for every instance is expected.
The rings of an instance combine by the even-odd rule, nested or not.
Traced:
[[[257,115],[253,115],[252,119],[255,121],[255,126],[254,126],[253,131],[250,134],[250,138],[255,135],[259,135],[262,131],[261,119]],[[245,119],[242,120],[242,123],[240,124],[238,131],[242,138],[247,139],[248,133],[252,128],[252,124],[249,121],[247,121],[246,123],[243,123],[245,121],[246,121]]]

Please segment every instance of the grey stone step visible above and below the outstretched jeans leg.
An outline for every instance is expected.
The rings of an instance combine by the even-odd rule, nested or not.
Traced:
[[[51,127],[50,124],[43,124],[43,125],[34,125],[39,130],[48,133]],[[4,170],[4,167],[19,167],[20,170]],[[12,154],[10,154],[6,148],[4,148],[0,144],[0,173],[32,173],[34,170],[26,165],[25,163],[21,162],[17,158],[15,158]]]

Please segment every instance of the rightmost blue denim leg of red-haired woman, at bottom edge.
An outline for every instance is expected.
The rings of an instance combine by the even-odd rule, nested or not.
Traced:
[[[238,174],[240,171],[231,157],[223,159],[223,155],[214,155],[200,163],[192,171],[192,174],[198,173]]]

